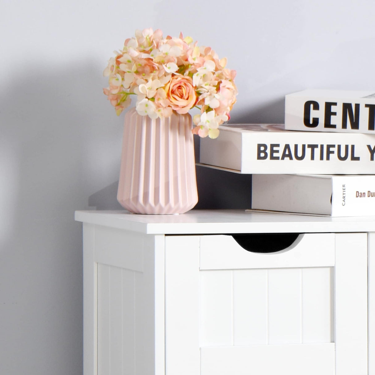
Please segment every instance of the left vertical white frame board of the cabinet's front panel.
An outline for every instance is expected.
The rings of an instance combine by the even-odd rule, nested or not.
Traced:
[[[165,237],[165,374],[200,374],[199,236]]]

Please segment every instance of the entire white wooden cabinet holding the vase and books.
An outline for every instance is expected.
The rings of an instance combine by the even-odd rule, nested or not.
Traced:
[[[375,374],[375,218],[197,210],[76,220],[84,375]],[[252,246],[265,233],[276,246],[300,234],[271,253],[226,235],[247,234]]]

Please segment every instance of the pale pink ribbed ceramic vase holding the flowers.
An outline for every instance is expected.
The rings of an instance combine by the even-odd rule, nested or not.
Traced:
[[[184,213],[198,202],[190,114],[125,115],[117,200],[133,213]]]

